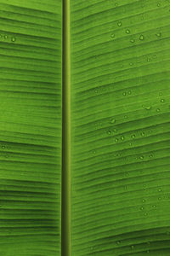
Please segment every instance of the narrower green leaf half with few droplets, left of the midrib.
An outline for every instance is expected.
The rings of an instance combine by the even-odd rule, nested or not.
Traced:
[[[61,0],[0,1],[0,255],[60,255]]]

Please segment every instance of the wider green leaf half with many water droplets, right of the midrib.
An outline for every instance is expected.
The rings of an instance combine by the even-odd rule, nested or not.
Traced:
[[[170,255],[170,1],[71,0],[73,256]]]

